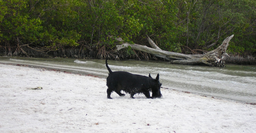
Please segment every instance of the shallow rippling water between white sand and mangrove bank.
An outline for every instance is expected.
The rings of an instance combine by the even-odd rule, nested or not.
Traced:
[[[0,57],[0,63],[26,64],[103,78],[108,76],[105,60],[97,59]],[[112,71],[127,71],[146,76],[150,73],[152,77],[159,73],[164,88],[256,103],[256,66],[226,65],[225,68],[217,68],[138,60],[108,60],[108,64]]]

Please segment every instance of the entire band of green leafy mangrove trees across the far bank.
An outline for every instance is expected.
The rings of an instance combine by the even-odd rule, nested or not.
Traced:
[[[0,0],[0,45],[56,50],[103,42],[113,49],[117,37],[147,45],[150,36],[161,49],[180,53],[182,45],[215,49],[234,34],[229,52],[254,54],[255,7],[252,0]]]

